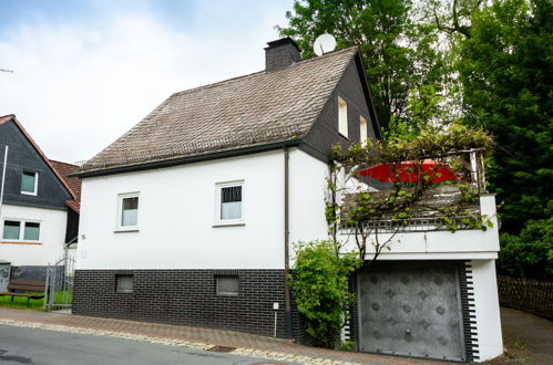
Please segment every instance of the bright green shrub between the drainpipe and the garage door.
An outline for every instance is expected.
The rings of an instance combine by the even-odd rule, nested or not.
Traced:
[[[355,294],[348,290],[350,274],[360,267],[357,254],[337,255],[329,241],[296,243],[291,289],[307,322],[307,333],[319,346],[334,347],[348,317]]]

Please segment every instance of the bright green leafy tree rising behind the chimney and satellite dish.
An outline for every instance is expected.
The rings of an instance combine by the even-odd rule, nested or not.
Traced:
[[[314,56],[313,43],[325,33],[337,38],[338,48],[359,45],[380,124],[406,117],[413,90],[443,85],[446,63],[436,28],[413,22],[410,0],[295,1],[289,24],[279,28],[299,43],[304,58]]]

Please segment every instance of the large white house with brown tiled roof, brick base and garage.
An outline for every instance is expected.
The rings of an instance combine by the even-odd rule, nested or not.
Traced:
[[[380,138],[379,125],[357,48],[300,61],[297,45],[281,39],[265,51],[266,70],[171,95],[81,167],[73,313],[273,335],[278,303],[277,336],[309,343],[285,284],[291,243],[327,238],[331,146]],[[493,197],[482,205],[494,211]],[[450,352],[420,354],[402,338],[398,354],[472,359],[479,345],[480,359],[501,354],[496,233],[436,232],[428,246],[417,233],[382,255],[393,281],[407,275],[430,286],[443,273],[450,284],[431,298],[458,305],[452,348],[449,337],[429,336],[440,328],[416,337]],[[379,352],[366,345],[367,331],[378,333],[363,317],[373,304],[367,280],[361,272],[352,281],[360,302],[349,336],[361,351]],[[409,295],[419,292],[401,301],[414,303],[426,294]],[[424,311],[406,323],[436,307]]]

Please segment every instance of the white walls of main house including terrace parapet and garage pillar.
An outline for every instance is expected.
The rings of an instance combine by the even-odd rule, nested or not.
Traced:
[[[284,166],[285,152],[277,149],[85,178],[76,269],[284,269]],[[325,163],[290,149],[290,244],[327,238],[327,176]],[[243,187],[243,217],[233,225],[222,225],[217,215],[217,189],[226,182]],[[126,196],[140,197],[137,225],[122,230]],[[494,273],[499,238],[494,197],[482,196],[480,204],[493,228],[401,233],[379,260],[472,260],[480,361],[485,361],[502,353]]]

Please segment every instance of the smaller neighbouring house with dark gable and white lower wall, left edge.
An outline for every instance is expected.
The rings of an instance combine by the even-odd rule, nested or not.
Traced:
[[[12,278],[44,280],[76,241],[80,179],[65,177],[74,168],[48,159],[14,115],[0,117],[0,260]]]

